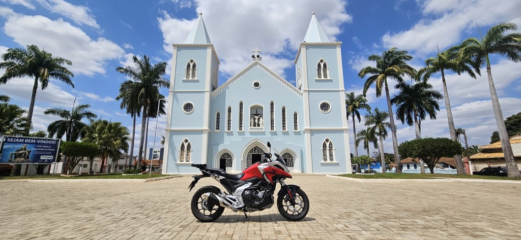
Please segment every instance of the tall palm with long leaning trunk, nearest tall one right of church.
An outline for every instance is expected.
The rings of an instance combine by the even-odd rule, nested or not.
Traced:
[[[364,78],[368,74],[371,74],[364,84],[364,96],[366,96],[369,87],[373,84],[376,86],[376,97],[382,95],[382,87],[385,86],[387,106],[389,109],[389,119],[391,123],[391,135],[394,149],[394,158],[396,164],[400,166],[400,154],[398,153],[398,139],[396,139],[396,126],[394,125],[394,116],[392,114],[391,99],[389,97],[389,86],[387,79],[393,79],[395,81],[403,82],[405,75],[414,78],[416,70],[412,66],[408,65],[406,61],[413,59],[411,55],[407,55],[407,51],[398,50],[397,48],[391,48],[382,53],[382,56],[371,55],[367,58],[369,61],[375,61],[376,67],[366,66],[358,73],[358,76]],[[400,168],[396,168],[396,172],[402,172]]]

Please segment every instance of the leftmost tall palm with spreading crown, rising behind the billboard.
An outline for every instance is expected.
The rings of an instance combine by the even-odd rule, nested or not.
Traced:
[[[32,114],[34,110],[34,100],[36,99],[36,90],[38,90],[38,82],[42,85],[42,90],[49,84],[49,79],[55,78],[72,87],[71,77],[74,76],[64,64],[71,65],[72,62],[61,57],[53,57],[52,54],[45,50],[40,50],[36,45],[28,45],[27,49],[9,48],[2,55],[5,62],[0,62],[0,69],[5,69],[5,73],[0,77],[0,84],[5,84],[11,78],[34,77],[34,85],[31,95],[31,103],[27,119],[32,122]],[[26,129],[29,134],[29,128]]]

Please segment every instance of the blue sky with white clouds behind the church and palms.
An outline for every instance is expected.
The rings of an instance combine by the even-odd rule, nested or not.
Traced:
[[[369,55],[398,47],[414,56],[411,65],[419,69],[425,59],[436,54],[437,44],[444,50],[467,37],[478,37],[476,22],[482,32],[501,22],[521,25],[519,9],[521,2],[510,0],[327,0],[298,1],[298,4],[231,0],[0,0],[0,54],[8,48],[35,44],[73,63],[70,70],[75,73],[75,88],[53,80],[47,89],[38,90],[34,131],[46,130],[57,119],[44,115],[45,109],[70,109],[75,98],[77,104],[90,104],[98,116],[122,122],[131,130],[132,119],[119,109],[115,100],[119,85],[126,78],[115,68],[131,65],[133,55],[147,55],[153,62],[170,63],[170,44],[184,41],[199,12],[203,13],[209,37],[221,60],[220,84],[251,62],[255,47],[261,49],[264,64],[294,84],[296,49],[304,38],[311,12],[315,11],[329,39],[342,42],[346,92],[361,94],[364,79],[357,73],[373,64],[367,61]],[[3,72],[0,70],[0,74]],[[167,78],[169,72],[170,66]],[[486,73],[485,69],[482,73]],[[492,74],[504,117],[520,112],[521,65],[493,56]],[[497,125],[486,75],[472,79],[449,73],[446,80],[456,128],[466,129],[469,144],[487,144]],[[442,92],[439,75],[433,76],[430,83]],[[12,79],[0,85],[0,94],[11,96],[11,103],[28,109],[32,84],[29,78]],[[162,93],[167,96],[168,89],[162,89]],[[391,95],[397,93],[391,88]],[[368,91],[367,98],[373,108],[387,110],[385,98],[376,98],[374,88]],[[450,137],[443,101],[440,109],[435,121],[426,119],[422,123],[423,137]],[[399,142],[414,138],[414,127],[395,122]],[[154,123],[150,124],[148,146],[154,140]],[[166,119],[160,117],[156,142],[159,135],[164,135],[165,124]],[[356,128],[362,129],[363,124],[363,121],[357,123]],[[139,131],[135,142],[139,143]],[[365,152],[361,147],[358,150]],[[384,142],[384,150],[392,152],[390,137]]]

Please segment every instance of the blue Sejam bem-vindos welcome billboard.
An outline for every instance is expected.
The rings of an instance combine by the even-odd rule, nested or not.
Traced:
[[[0,163],[50,164],[56,161],[60,139],[3,136]]]

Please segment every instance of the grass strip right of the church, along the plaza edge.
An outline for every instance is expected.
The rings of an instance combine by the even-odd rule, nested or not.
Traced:
[[[436,178],[466,178],[466,179],[488,179],[488,180],[517,180],[521,178],[507,178],[496,176],[479,176],[479,175],[456,175],[456,174],[342,174],[340,177],[348,178],[365,178],[365,179],[436,179]]]

